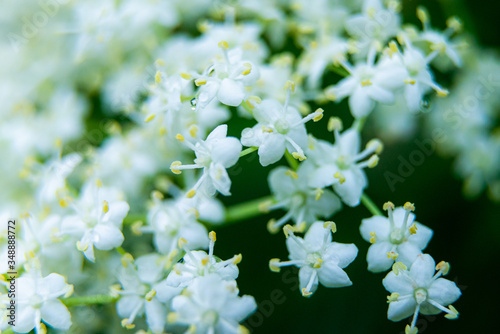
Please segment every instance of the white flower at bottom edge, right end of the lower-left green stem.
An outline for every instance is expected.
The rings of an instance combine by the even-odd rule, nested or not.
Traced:
[[[133,322],[138,315],[145,313],[146,322],[154,334],[163,333],[166,323],[167,307],[165,302],[179,294],[182,289],[166,284],[164,275],[171,265],[168,256],[148,254],[133,261],[130,254],[122,258],[119,281],[123,289],[114,289],[121,295],[116,310],[125,328],[134,328]]]

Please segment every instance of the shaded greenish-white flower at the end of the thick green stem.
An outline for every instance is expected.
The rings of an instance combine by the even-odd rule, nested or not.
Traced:
[[[309,175],[313,173],[310,165],[301,164],[297,172],[283,166],[269,173],[269,187],[275,196],[276,204],[269,209],[284,209],[288,212],[277,221],[271,219],[268,229],[271,233],[292,219],[297,228],[303,230],[318,218],[329,218],[340,210],[339,198],[328,189],[311,187]]]

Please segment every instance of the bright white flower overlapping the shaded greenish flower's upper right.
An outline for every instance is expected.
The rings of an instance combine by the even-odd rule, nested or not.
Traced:
[[[309,174],[309,185],[319,188],[333,185],[347,205],[357,206],[368,185],[363,168],[377,165],[382,143],[372,139],[360,152],[361,138],[356,129],[351,128],[340,134],[342,125],[337,118],[332,118],[329,126],[334,131],[335,144],[318,140],[312,141],[309,146],[307,154],[310,159],[306,163],[314,166]],[[370,158],[363,161],[368,156]]]

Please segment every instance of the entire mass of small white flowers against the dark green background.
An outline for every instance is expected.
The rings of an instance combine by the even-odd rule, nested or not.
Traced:
[[[367,170],[384,158],[378,138],[410,134],[411,117],[434,98],[428,123],[446,130],[442,146],[458,156],[467,190],[500,197],[497,82],[466,107],[474,117],[449,112],[469,103],[462,98],[472,78],[498,71],[499,61],[463,50],[457,18],[439,31],[419,7],[422,28],[409,26],[398,0],[9,7],[0,13],[8,32],[0,41],[0,153],[9,157],[0,164],[0,217],[19,222],[23,292],[16,324],[1,317],[0,330],[83,324],[90,332],[97,320],[71,316],[71,306],[116,303],[106,332],[245,333],[240,323],[257,306],[239,295],[242,256],[220,260],[208,231],[275,210],[283,213],[267,227],[284,231],[289,260],[272,259],[272,271],[300,268],[305,297],[320,283],[353,284],[344,269],[358,248],[333,242],[330,220],[366,204]],[[284,50],[290,41],[293,54]],[[436,74],[458,67],[465,74],[448,92]],[[341,119],[344,99],[350,113]],[[364,137],[365,124],[375,135]],[[233,187],[238,174],[251,175],[241,160],[251,154],[269,171],[270,196],[226,207],[232,193],[252,197]],[[449,305],[460,291],[440,278],[448,265],[434,274],[422,253],[432,230],[415,221],[410,203],[385,208],[387,219],[365,219],[360,231],[371,243],[368,270],[393,268],[384,280],[389,319],[414,314],[414,333],[419,313],[456,317]],[[0,263],[0,274],[8,271]]]

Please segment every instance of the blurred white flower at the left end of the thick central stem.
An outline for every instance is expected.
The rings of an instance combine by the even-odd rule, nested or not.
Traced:
[[[207,229],[196,220],[198,211],[187,205],[185,199],[160,201],[154,198],[148,212],[148,225],[139,227],[140,232],[153,233],[153,243],[162,254],[178,250],[181,238],[192,249],[207,248]]]

